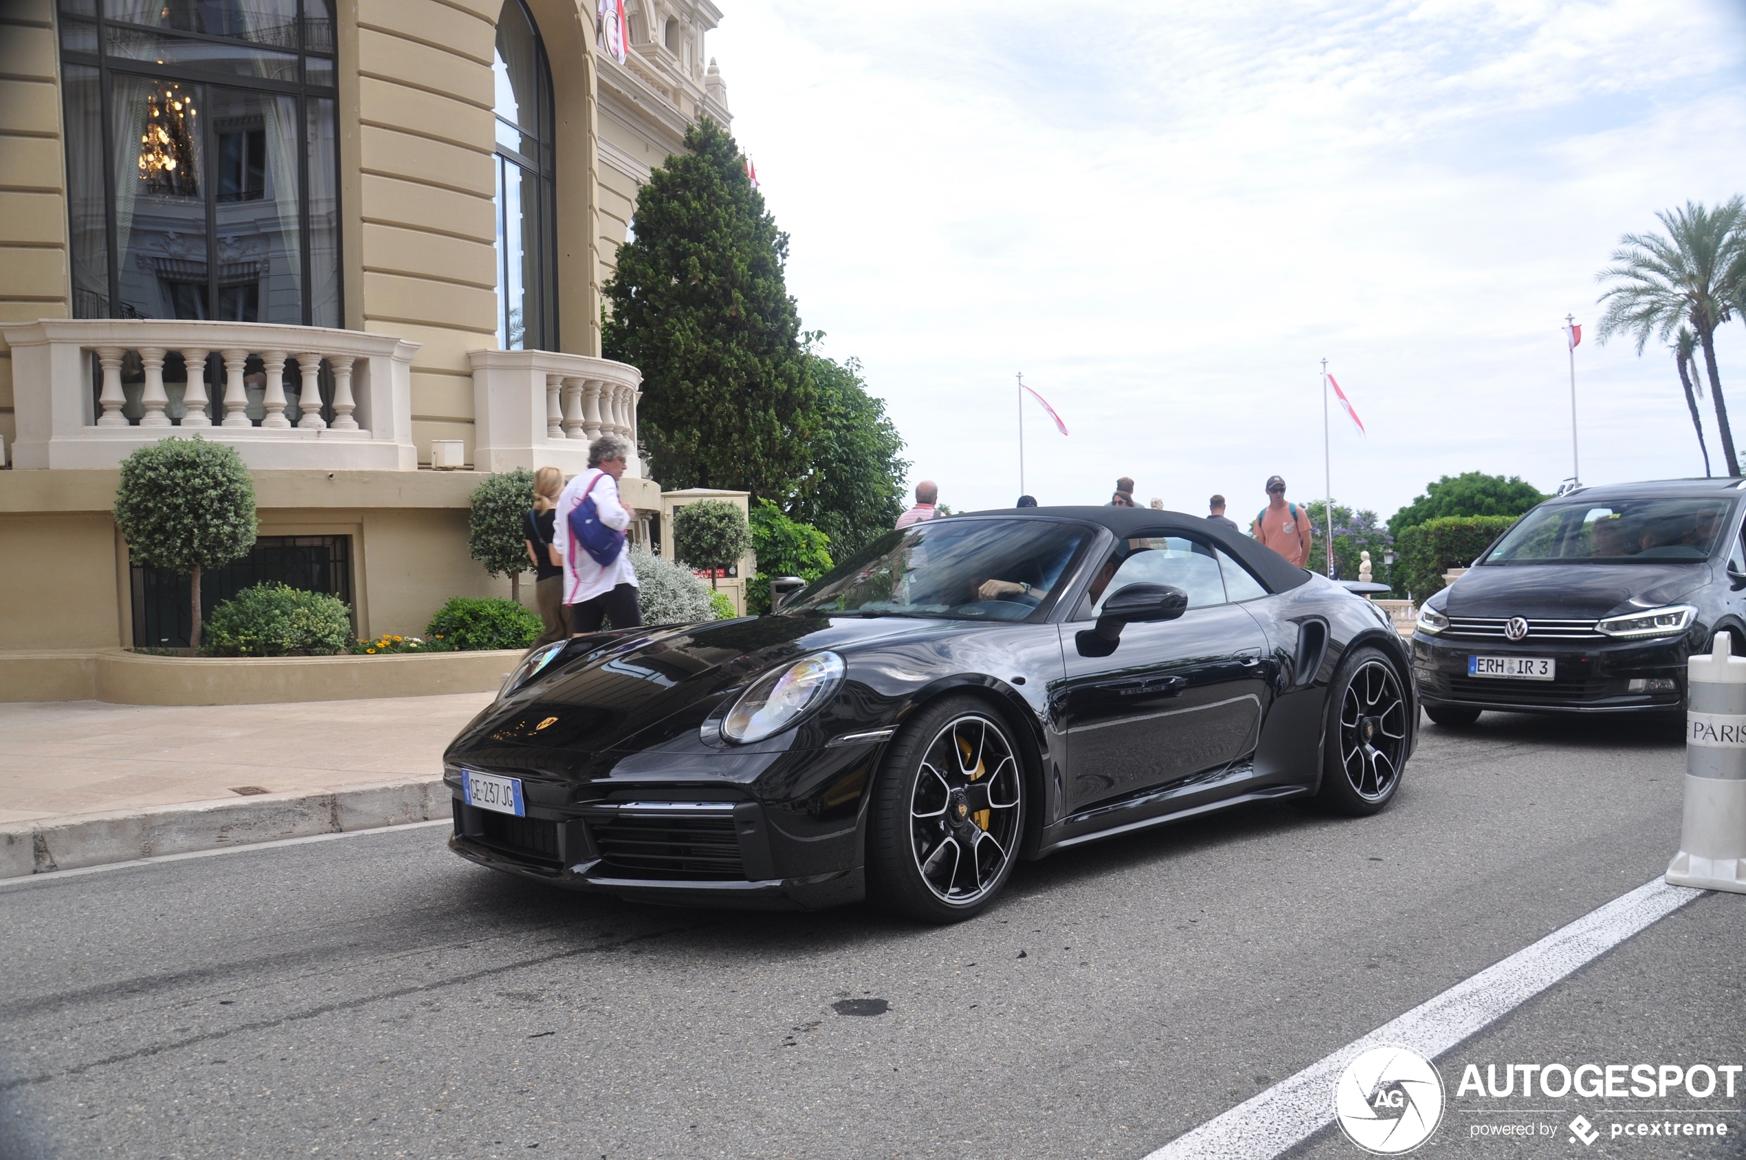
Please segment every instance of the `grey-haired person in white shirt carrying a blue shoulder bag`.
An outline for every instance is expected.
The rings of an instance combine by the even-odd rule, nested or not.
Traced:
[[[625,473],[629,456],[629,442],[618,435],[601,435],[588,444],[588,470],[569,480],[557,498],[552,545],[564,561],[564,604],[569,606],[569,631],[576,636],[599,632],[602,620],[611,620],[615,629],[643,624],[637,573],[630,566],[623,535],[630,528],[630,512],[618,501],[618,477]],[[594,507],[595,535],[588,533],[587,510],[580,514],[576,526],[571,524],[571,517],[585,505]],[[601,528],[618,533],[616,550],[611,535],[597,535]]]

